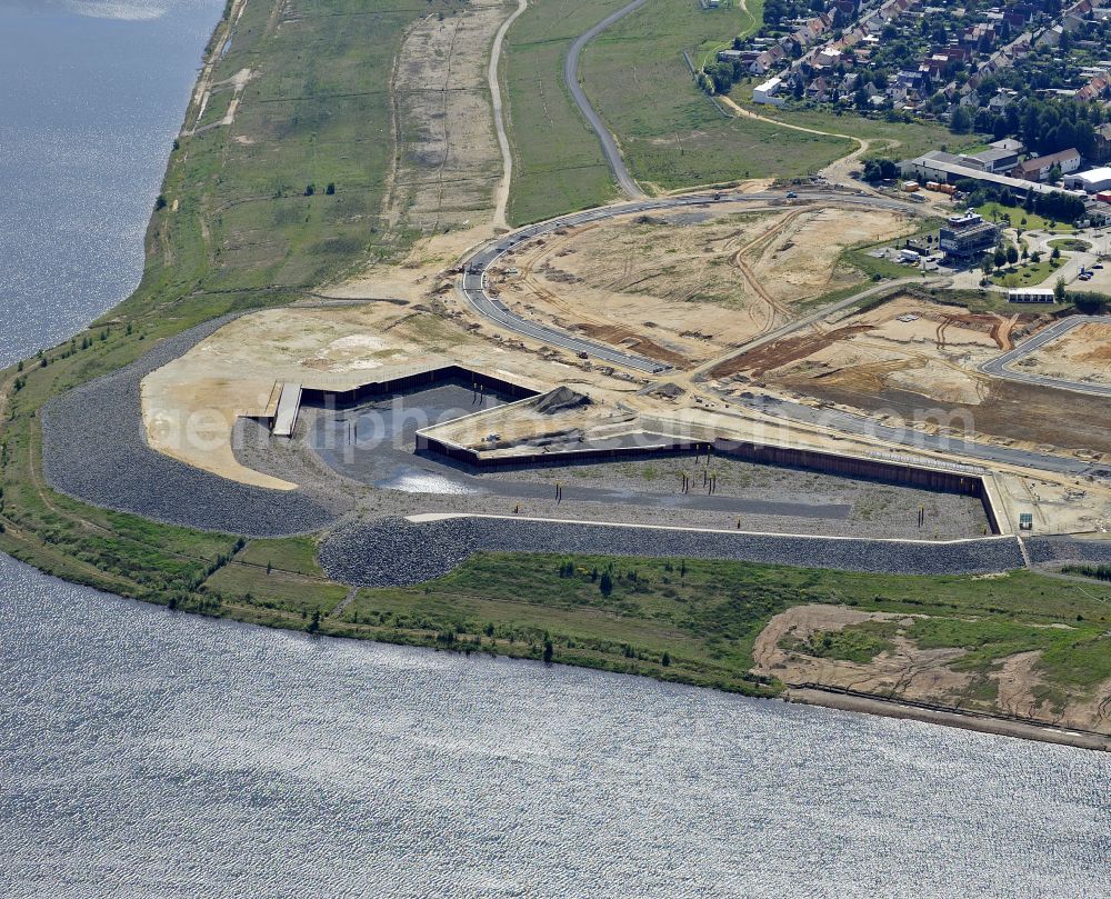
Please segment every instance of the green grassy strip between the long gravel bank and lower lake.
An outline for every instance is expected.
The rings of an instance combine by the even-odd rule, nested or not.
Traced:
[[[300,543],[300,546],[298,546]],[[250,565],[244,565],[249,562]],[[266,597],[256,620],[303,625],[304,603],[284,598],[272,562],[322,577],[311,543],[257,541],[209,582],[238,605]],[[612,591],[602,591],[610,572]],[[334,603],[338,597],[330,597]],[[802,603],[835,602],[862,611],[921,616],[912,626],[868,623],[820,638],[800,651],[869,661],[897,630],[922,648],[963,648],[957,667],[988,675],[1015,652],[1042,650],[1043,696],[1060,705],[1070,691],[1111,677],[1111,587],[1079,585],[1022,571],[1001,578],[910,577],[812,571],[741,562],[488,553],[418,588],[360,590],[322,632],[390,642],[544,658],[592,668],[743,692],[754,681],[752,645],[767,621]],[[310,611],[311,615],[311,611]],[[1053,626],[1053,627],[1050,627]]]

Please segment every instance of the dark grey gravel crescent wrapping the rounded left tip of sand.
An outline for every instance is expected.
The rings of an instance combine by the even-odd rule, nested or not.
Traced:
[[[140,381],[233,316],[163,340],[127,368],[51,400],[42,410],[42,467],[56,490],[174,525],[250,537],[318,530],[344,510],[303,491],[247,487],[147,446]]]

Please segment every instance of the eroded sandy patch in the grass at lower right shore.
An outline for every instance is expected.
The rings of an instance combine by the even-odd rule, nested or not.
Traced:
[[[1091,691],[1070,693],[1059,688],[1065,702],[1062,708],[1053,708],[1039,698],[1050,686],[1038,668],[1040,652],[1017,653],[989,672],[985,677],[998,689],[997,698],[991,700],[975,692],[984,676],[955,670],[955,663],[965,655],[963,649],[920,649],[901,632],[892,638],[893,650],[881,652],[868,665],[784,648],[784,638],[805,640],[818,632],[839,631],[865,621],[909,626],[913,619],[845,606],[798,606],[772,618],[761,631],[753,646],[753,671],[778,677],[788,685],[819,685],[1111,735],[1111,681]]]

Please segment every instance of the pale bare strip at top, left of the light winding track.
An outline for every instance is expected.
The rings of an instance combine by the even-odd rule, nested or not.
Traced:
[[[488,63],[503,2],[427,16],[406,33],[394,68],[397,169],[389,220],[424,232],[492,220],[503,160]]]

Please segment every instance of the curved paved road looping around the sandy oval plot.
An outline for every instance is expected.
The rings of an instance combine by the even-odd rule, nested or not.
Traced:
[[[867,194],[851,194],[832,190],[804,190],[800,189],[800,201],[827,201],[839,203],[851,203],[869,209],[892,209],[913,216],[927,214],[922,209],[913,203],[904,203],[899,200],[891,200],[885,197],[871,197]],[[628,203],[617,203],[614,206],[603,206],[597,209],[588,209],[584,212],[574,212],[570,216],[561,216],[557,219],[530,224],[512,233],[499,238],[492,243],[488,243],[471,256],[463,268],[463,277],[460,282],[460,291],[467,303],[487,320],[506,328],[522,337],[539,340],[551,347],[568,350],[575,354],[587,356],[609,362],[610,364],[630,368],[649,374],[658,374],[669,369],[663,362],[649,359],[634,353],[622,352],[615,347],[598,343],[592,340],[574,337],[559,328],[552,328],[538,321],[532,321],[517,312],[510,310],[501,300],[491,297],[487,292],[487,272],[498,262],[498,260],[511,250],[516,250],[530,240],[534,240],[543,234],[550,234],[563,228],[573,228],[588,222],[603,221],[605,219],[618,218],[619,216],[635,214],[638,212],[659,212],[671,209],[682,209],[685,207],[709,207],[723,203],[753,202],[768,203],[772,201],[790,202],[783,193],[760,192],[739,193],[735,191],[719,191],[717,193],[688,193],[680,197],[660,197],[657,199],[634,200]]]

